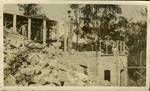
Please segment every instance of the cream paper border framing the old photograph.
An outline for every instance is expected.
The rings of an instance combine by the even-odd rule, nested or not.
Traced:
[[[136,86],[128,86],[128,87],[117,87],[117,86],[88,86],[88,87],[80,87],[80,86],[64,86],[64,87],[49,87],[49,86],[4,86],[3,81],[3,5],[4,4],[119,4],[119,5],[145,5],[148,8],[148,17],[147,17],[147,65],[146,65],[146,86],[145,87],[136,87]],[[150,85],[150,1],[69,1],[69,0],[3,0],[0,4],[0,91],[11,90],[11,91],[20,91],[20,90],[69,90],[69,91],[148,91]]]

